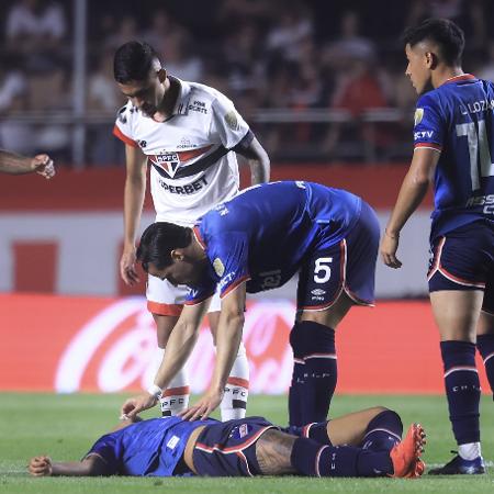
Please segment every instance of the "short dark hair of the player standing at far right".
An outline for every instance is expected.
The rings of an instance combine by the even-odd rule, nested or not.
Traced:
[[[427,19],[415,27],[405,30],[403,43],[414,46],[424,40],[436,43],[439,47],[439,57],[449,66],[461,65],[464,48],[463,31],[448,19]]]

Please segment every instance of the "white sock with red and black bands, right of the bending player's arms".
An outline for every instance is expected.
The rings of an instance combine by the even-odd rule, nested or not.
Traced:
[[[225,394],[220,409],[222,420],[244,418],[249,395],[249,362],[244,344],[240,341],[237,358],[232,367],[232,372],[226,381]]]

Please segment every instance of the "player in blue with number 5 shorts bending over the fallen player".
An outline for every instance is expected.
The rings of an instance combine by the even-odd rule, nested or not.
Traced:
[[[183,414],[207,417],[222,400],[242,339],[246,292],[280,287],[299,272],[297,316],[290,334],[290,425],[324,420],[337,381],[335,328],[352,305],[372,305],[378,247],[378,220],[366,202],[310,182],[252,187],[214,207],[193,229],[159,222],[149,226],[137,251],[143,268],[192,290],[155,385],[125,402],[122,412],[133,415],[156,404],[192,351],[218,285],[213,378],[202,400]]]

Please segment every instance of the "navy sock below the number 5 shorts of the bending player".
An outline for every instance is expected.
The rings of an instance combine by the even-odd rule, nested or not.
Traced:
[[[335,330],[312,321],[295,323],[290,345],[294,356],[290,425],[324,422],[337,382]]]

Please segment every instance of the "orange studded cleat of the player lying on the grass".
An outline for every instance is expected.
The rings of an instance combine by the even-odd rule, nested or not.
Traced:
[[[425,430],[419,424],[408,427],[405,438],[390,451],[394,473],[390,476],[416,479],[424,473],[425,463],[420,460],[424,451]]]

